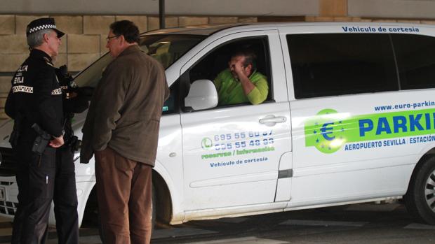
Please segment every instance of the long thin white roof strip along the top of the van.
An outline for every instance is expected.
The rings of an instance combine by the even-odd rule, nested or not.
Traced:
[[[194,25],[189,27],[180,27],[180,28],[169,28],[169,29],[157,29],[154,31],[148,31],[143,33],[142,35],[149,34],[185,34],[185,35],[203,35],[210,36],[215,32],[222,31],[224,29],[230,28],[271,28],[271,27],[289,27],[289,26],[337,26],[337,25],[349,25],[352,24],[354,26],[359,27],[369,27],[374,25],[389,25],[389,26],[413,26],[413,27],[432,27],[432,24],[416,24],[416,23],[401,23],[401,22],[262,22],[262,23],[235,23],[235,24],[202,24],[202,25]],[[239,28],[237,28],[239,27]]]

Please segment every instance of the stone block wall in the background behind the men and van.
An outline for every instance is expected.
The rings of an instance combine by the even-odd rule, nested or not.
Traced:
[[[28,55],[25,29],[55,17],[62,37],[56,66],[81,69],[107,52],[109,24],[132,20],[159,28],[159,0],[0,0],[0,119],[11,77]],[[166,27],[277,21],[415,22],[435,24],[435,0],[166,0]]]

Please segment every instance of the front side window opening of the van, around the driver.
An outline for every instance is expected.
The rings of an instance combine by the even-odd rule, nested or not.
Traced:
[[[209,52],[207,55],[199,60],[194,66],[192,66],[187,73],[183,75],[186,77],[184,80],[184,84],[182,84],[182,98],[184,99],[187,96],[187,92],[189,90],[189,85],[192,82],[200,79],[207,79],[215,82],[217,84],[218,78],[219,80],[222,77],[230,78],[232,76],[222,76],[223,73],[228,69],[228,63],[231,59],[232,55],[236,54],[241,50],[249,50],[250,53],[253,53],[255,58],[255,62],[253,62],[251,69],[250,78],[259,78],[262,77],[262,91],[267,91],[265,94],[265,101],[272,100],[272,76],[270,69],[270,59],[269,59],[269,45],[267,42],[267,36],[255,36],[250,38],[241,38],[235,41],[231,41],[229,43],[225,43],[215,48],[215,50]],[[244,66],[246,67],[246,66]],[[222,78],[223,79],[223,78]],[[225,80],[225,79],[224,79]],[[220,80],[221,82],[224,82]],[[267,84],[266,84],[267,83]],[[257,83],[260,84],[260,83]],[[234,84],[233,84],[234,85]],[[230,86],[233,89],[241,89],[240,85]],[[268,89],[267,89],[268,87]],[[228,89],[229,91],[229,89]],[[228,92],[227,91],[227,92]],[[217,91],[219,94],[219,91]],[[243,94],[243,93],[242,93]],[[244,94],[243,94],[244,95]],[[226,97],[227,98],[227,97]],[[237,100],[237,99],[234,99]],[[240,105],[250,105],[249,102],[234,102],[231,104],[222,104],[222,97],[220,97],[220,104],[218,106],[240,106]]]

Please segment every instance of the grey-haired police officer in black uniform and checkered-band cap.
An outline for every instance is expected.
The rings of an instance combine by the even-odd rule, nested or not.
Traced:
[[[53,194],[62,191],[54,197],[59,243],[78,243],[74,164],[56,161],[65,120],[52,59],[64,33],[53,18],[40,18],[27,25],[26,35],[30,55],[13,76],[5,105],[14,120],[10,142],[18,164],[12,243],[45,242]]]

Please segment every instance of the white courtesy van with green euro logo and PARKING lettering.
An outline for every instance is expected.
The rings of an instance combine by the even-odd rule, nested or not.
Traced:
[[[418,220],[435,224],[435,27],[234,24],[150,31],[141,46],[170,86],[152,175],[162,221],[403,197]],[[240,46],[255,51],[267,100],[216,106],[213,79]],[[110,60],[74,82],[95,86]],[[79,137],[85,117],[74,117]],[[0,212],[10,217],[12,125],[0,128]],[[76,160],[76,182],[82,220],[95,212],[93,161]]]

